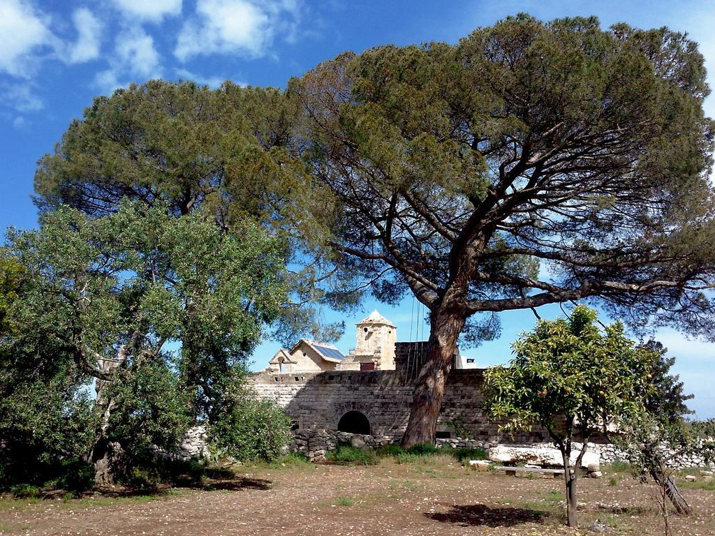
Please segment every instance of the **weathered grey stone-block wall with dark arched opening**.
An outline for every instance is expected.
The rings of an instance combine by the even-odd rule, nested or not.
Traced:
[[[405,358],[405,344],[396,347],[403,367],[377,371],[295,372],[252,374],[257,393],[278,403],[298,430],[337,430],[340,417],[349,411],[363,413],[370,433],[402,435],[407,426],[413,397],[413,372],[420,357]],[[413,369],[415,367],[415,369]],[[490,422],[483,409],[483,370],[458,369],[448,376],[438,418],[438,432],[452,437],[466,435],[480,442],[497,443],[504,438],[498,422]],[[535,428],[516,433],[513,442],[541,442],[546,432]]]

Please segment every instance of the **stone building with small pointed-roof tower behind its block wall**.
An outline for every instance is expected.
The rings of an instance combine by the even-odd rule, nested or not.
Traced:
[[[340,430],[399,437],[407,426],[415,378],[426,342],[397,342],[395,324],[373,311],[356,324],[347,356],[330,344],[301,339],[280,349],[251,381],[263,397],[285,409],[295,430]],[[483,411],[483,370],[455,352],[445,388],[437,437],[500,440],[498,423]],[[543,440],[535,430],[521,440]],[[516,438],[515,438],[516,439]]]

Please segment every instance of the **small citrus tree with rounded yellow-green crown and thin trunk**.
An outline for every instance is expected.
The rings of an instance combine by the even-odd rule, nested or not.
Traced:
[[[486,374],[488,411],[507,432],[548,430],[563,457],[568,526],[576,527],[576,480],[588,440],[614,417],[640,409],[653,352],[628,339],[620,322],[599,329],[596,312],[583,306],[569,319],[539,321],[512,348],[510,364]],[[574,439],[583,447],[571,470]]]

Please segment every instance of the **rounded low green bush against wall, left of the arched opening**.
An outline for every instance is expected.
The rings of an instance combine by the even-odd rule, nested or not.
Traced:
[[[290,419],[272,400],[236,381],[232,385],[212,420],[212,450],[242,461],[276,460],[290,442]]]

